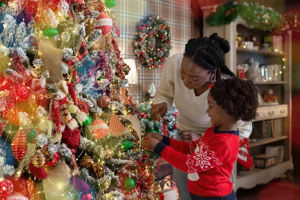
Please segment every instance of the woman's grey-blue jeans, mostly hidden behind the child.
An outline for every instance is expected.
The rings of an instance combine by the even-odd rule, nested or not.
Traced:
[[[180,130],[178,129],[178,132],[179,131]],[[178,135],[178,133],[176,134],[175,139],[181,140],[181,137]],[[189,191],[187,189],[187,173],[180,171],[175,167],[173,167],[173,171],[180,200],[191,200]]]

